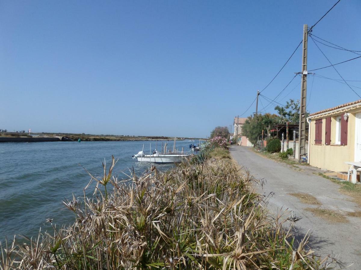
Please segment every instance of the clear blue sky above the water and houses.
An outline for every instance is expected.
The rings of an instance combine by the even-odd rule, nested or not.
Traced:
[[[0,128],[209,136],[245,111],[296,48],[303,24],[335,2],[0,1]],[[361,50],[360,14],[359,0],[342,0],[313,34]],[[308,44],[308,69],[329,65]],[[319,46],[332,63],[358,56]],[[336,66],[345,80],[361,80],[360,59]],[[300,69],[301,48],[262,94],[273,99]],[[339,79],[332,67],[315,72]],[[299,98],[300,80],[278,102]],[[312,76],[310,93],[310,112],[359,99]],[[244,116],[252,112],[255,105]]]

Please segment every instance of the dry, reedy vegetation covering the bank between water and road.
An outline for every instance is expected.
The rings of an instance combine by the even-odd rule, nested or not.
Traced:
[[[208,155],[207,155],[208,156]],[[0,269],[322,269],[268,215],[251,175],[224,159],[152,166],[120,181],[104,165],[92,198],[64,202],[73,225],[1,248]],[[85,192],[84,192],[85,193]],[[48,220],[55,222],[56,220]],[[287,219],[284,222],[292,222]]]

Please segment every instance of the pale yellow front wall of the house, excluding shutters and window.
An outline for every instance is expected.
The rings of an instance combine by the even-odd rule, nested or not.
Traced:
[[[353,109],[347,111],[350,113],[348,116],[348,129],[347,129],[347,145],[335,145],[335,132],[336,132],[336,117],[342,116],[345,112],[334,113],[332,115],[319,117],[311,120],[310,127],[310,153],[309,163],[312,166],[327,169],[330,171],[347,171],[349,165],[345,164],[345,161],[355,160],[355,123],[356,113],[360,112],[360,109]],[[331,118],[331,144],[325,145],[325,130],[326,130],[326,117]],[[315,122],[322,118],[322,144],[315,145]]]

